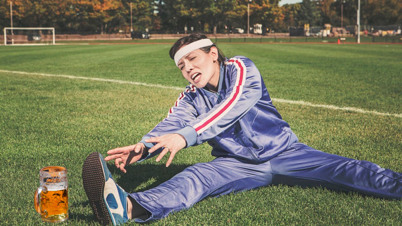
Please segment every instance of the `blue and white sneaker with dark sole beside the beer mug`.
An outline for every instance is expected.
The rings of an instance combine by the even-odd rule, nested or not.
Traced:
[[[100,153],[93,152],[86,157],[82,166],[82,184],[99,223],[119,225],[129,221],[128,193],[115,183]]]

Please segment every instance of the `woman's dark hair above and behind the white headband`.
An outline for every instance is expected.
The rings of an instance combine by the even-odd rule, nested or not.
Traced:
[[[180,38],[173,44],[172,48],[170,48],[170,51],[169,51],[170,58],[174,59],[174,54],[176,54],[176,52],[181,47],[188,45],[192,42],[201,40],[201,39],[208,39],[208,38],[206,35],[204,35],[203,33],[199,33],[199,32],[192,33],[190,35]],[[218,49],[219,64],[221,64],[222,62],[225,62],[225,55],[223,55],[222,51],[216,46],[215,43],[211,46],[206,46],[206,47],[200,48],[200,50],[203,50],[205,53],[209,53],[211,51],[211,47],[213,47],[213,46],[215,46]]]

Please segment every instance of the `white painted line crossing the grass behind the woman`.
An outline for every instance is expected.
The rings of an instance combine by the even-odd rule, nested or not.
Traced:
[[[26,75],[41,75],[41,76],[47,76],[47,77],[63,77],[63,78],[70,78],[70,79],[83,79],[83,80],[92,80],[92,81],[114,82],[114,83],[121,83],[121,84],[142,85],[142,86],[146,86],[146,87],[174,89],[174,90],[179,90],[179,91],[183,90],[182,87],[176,87],[176,86],[165,86],[165,85],[158,85],[158,84],[148,84],[148,83],[144,83],[144,82],[133,82],[133,81],[124,81],[124,80],[116,80],[116,79],[106,79],[106,78],[81,77],[81,76],[63,75],[63,74],[44,74],[44,73],[32,73],[32,72],[8,71],[8,70],[0,70],[0,72],[14,73],[14,74],[26,74]],[[327,108],[327,109],[333,109],[333,110],[352,111],[352,112],[358,112],[361,114],[373,114],[373,115],[377,115],[377,116],[392,116],[392,117],[402,118],[402,114],[378,112],[375,110],[365,110],[365,109],[356,108],[356,107],[339,107],[339,106],[335,106],[335,105],[315,104],[315,103],[310,103],[310,102],[306,102],[303,100],[288,100],[288,99],[272,98],[272,101],[280,102],[280,103],[289,103],[289,104],[319,107],[319,108]]]

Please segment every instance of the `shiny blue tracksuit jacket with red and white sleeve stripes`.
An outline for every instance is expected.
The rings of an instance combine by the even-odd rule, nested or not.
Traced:
[[[180,93],[168,116],[143,137],[181,134],[187,147],[208,142],[216,157],[266,162],[297,142],[272,104],[254,63],[236,56],[221,65],[218,92],[192,84]],[[145,153],[142,160],[161,152]]]

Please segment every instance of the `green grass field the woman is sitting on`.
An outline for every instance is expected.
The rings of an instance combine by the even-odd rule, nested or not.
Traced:
[[[224,44],[259,68],[273,98],[402,114],[402,45]],[[0,46],[0,225],[48,225],[33,207],[39,169],[68,170],[67,225],[95,225],[82,188],[85,157],[138,142],[180,91],[72,75],[184,87],[170,45]],[[402,118],[275,102],[300,142],[402,172]],[[214,159],[208,145],[170,167],[150,159],[115,180],[128,192]],[[132,222],[130,225],[134,225]],[[322,188],[281,186],[207,198],[149,225],[400,225],[402,202]]]

